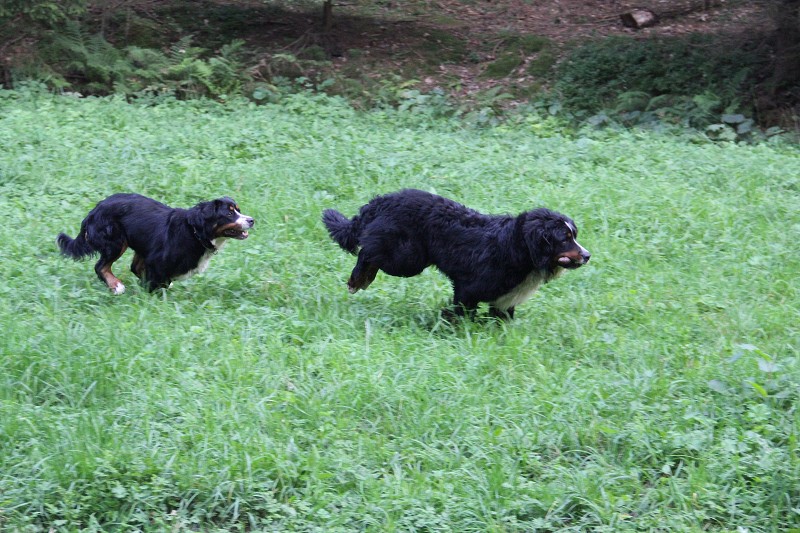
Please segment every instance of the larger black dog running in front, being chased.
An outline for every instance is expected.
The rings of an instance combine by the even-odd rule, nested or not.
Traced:
[[[322,220],[339,246],[358,253],[351,293],[369,287],[378,270],[410,277],[435,265],[453,282],[460,315],[489,302],[493,316],[511,318],[539,285],[591,257],[575,240],[575,223],[554,211],[483,215],[415,189],[378,196],[352,219],[327,209]]]

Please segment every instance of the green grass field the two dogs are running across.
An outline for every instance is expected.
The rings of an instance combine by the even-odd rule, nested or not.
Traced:
[[[0,530],[800,528],[800,152],[281,105],[0,95]],[[320,222],[418,187],[570,215],[586,267],[449,324]],[[208,271],[114,296],[60,231],[230,195]]]

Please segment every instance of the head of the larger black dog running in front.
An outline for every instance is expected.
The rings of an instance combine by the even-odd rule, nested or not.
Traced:
[[[578,244],[578,227],[568,216],[535,209],[521,215],[525,244],[534,265],[543,271],[578,268],[589,262],[592,254]]]

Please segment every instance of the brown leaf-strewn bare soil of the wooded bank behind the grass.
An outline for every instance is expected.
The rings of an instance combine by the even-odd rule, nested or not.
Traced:
[[[298,3],[302,1],[288,4],[294,8],[264,0],[122,0],[122,4],[140,20],[155,22],[160,34],[155,41],[175,42],[191,34],[193,44],[215,48],[244,39],[260,55],[258,63],[264,68],[254,68],[256,75],[270,73],[276,54],[302,55],[316,47],[327,53],[345,78],[398,74],[419,80],[423,89],[441,87],[465,98],[496,85],[514,86],[524,98],[525,88],[535,90],[546,83],[548,62],[557,62],[571,45],[586,39],[695,32],[748,35],[773,24],[765,0],[338,0],[331,31],[322,32],[319,0]],[[103,3],[90,4],[98,27],[101,20],[123,13]],[[641,30],[624,27],[620,14],[634,7],[654,11],[660,22]],[[130,18],[122,19],[123,25],[105,28],[107,38],[120,45],[133,36]],[[147,35],[150,31],[140,34],[145,42],[153,39]],[[34,39],[11,35],[0,38],[0,71],[4,64],[30,55],[36,46]],[[544,52],[520,50],[523,57],[516,68],[487,75],[487,67],[508,53],[510,36],[538,36],[549,45]],[[155,41],[151,45],[158,46]],[[544,54],[546,58],[541,57]],[[546,60],[542,69],[527,68],[538,59]]]

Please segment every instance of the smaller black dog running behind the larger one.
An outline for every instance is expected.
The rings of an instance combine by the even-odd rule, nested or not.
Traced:
[[[179,209],[123,193],[98,203],[75,239],[61,233],[56,242],[62,254],[76,260],[99,253],[94,271],[114,294],[122,294],[125,285],[111,265],[128,248],[135,252],[131,271],[152,291],[204,272],[226,239],[246,239],[254,223],[227,196]]]

